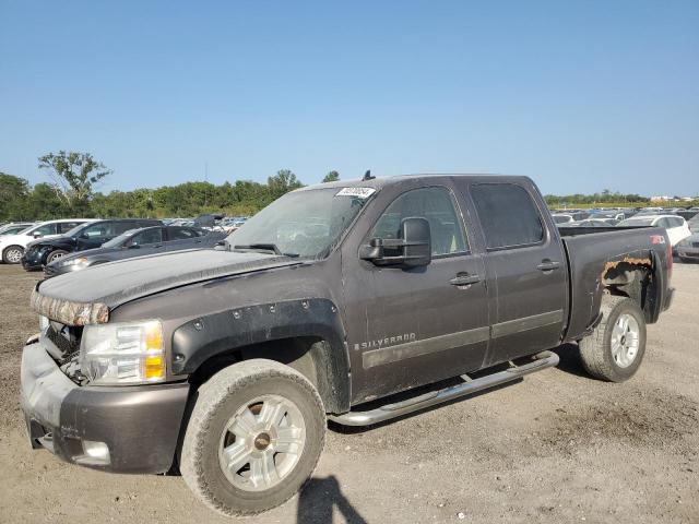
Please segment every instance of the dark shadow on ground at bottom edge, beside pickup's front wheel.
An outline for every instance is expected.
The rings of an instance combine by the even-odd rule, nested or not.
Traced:
[[[298,496],[296,522],[299,524],[332,523],[333,509],[337,508],[347,524],[366,524],[366,520],[352,505],[340,489],[340,483],[331,475],[311,478]]]

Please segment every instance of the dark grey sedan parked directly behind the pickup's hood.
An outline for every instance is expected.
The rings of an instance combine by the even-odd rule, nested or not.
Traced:
[[[81,271],[93,265],[185,249],[213,248],[226,238],[222,231],[198,227],[155,226],[130,229],[100,248],[67,254],[44,267],[47,277]]]

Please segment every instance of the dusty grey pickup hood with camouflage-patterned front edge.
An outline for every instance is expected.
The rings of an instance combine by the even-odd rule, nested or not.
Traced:
[[[109,310],[154,293],[301,263],[288,257],[214,249],[140,257],[43,281],[32,294],[32,307],[71,325],[102,323]]]

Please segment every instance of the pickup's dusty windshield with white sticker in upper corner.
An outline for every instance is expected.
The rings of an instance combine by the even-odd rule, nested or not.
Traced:
[[[325,257],[374,191],[335,187],[287,193],[249,218],[226,241],[232,249]]]

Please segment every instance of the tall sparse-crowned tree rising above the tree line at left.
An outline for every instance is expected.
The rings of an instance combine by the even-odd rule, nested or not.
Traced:
[[[49,171],[56,193],[79,213],[88,211],[95,183],[112,172],[90,153],[64,151],[39,156],[39,168]]]

